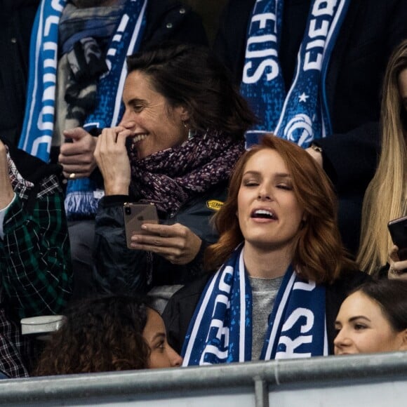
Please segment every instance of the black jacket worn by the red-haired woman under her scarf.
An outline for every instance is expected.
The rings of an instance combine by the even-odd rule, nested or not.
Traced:
[[[194,315],[196,305],[209,277],[211,277],[211,274],[206,274],[181,288],[180,291],[173,295],[166,309],[164,309],[162,317],[166,324],[168,343],[178,353],[181,353],[189,322]],[[333,354],[333,340],[336,336],[335,319],[342,301],[345,300],[349,291],[370,279],[371,276],[366,273],[343,272],[342,276],[333,284],[326,285],[326,326],[329,354]]]

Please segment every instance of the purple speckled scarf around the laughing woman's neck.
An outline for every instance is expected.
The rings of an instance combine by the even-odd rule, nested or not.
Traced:
[[[243,140],[221,133],[197,133],[144,159],[130,151],[131,192],[171,217],[192,197],[228,180],[243,152]]]

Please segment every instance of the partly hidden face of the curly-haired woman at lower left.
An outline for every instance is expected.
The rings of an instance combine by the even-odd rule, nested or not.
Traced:
[[[147,323],[142,336],[150,348],[148,368],[171,368],[181,365],[181,356],[168,345],[164,321],[153,309],[147,309]]]

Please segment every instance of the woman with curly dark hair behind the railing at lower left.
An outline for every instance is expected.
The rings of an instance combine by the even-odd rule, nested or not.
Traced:
[[[109,295],[69,309],[32,375],[169,368],[181,362],[148,300]]]

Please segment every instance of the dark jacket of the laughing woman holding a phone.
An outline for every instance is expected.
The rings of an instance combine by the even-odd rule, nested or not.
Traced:
[[[159,255],[130,250],[126,246],[123,204],[128,196],[106,196],[101,199],[96,214],[95,269],[93,276],[99,292],[145,293],[149,286],[185,284],[203,272],[205,248],[218,240],[210,223],[215,213],[209,201],[225,201],[227,185],[222,182],[208,192],[196,196],[180,208],[173,218],[161,218],[160,223],[180,223],[202,239],[196,258],[187,265],[173,265]],[[147,277],[152,274],[151,283]]]

